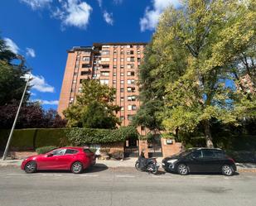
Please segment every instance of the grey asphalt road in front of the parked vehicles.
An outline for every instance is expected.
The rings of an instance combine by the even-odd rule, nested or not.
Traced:
[[[97,167],[81,175],[0,167],[1,206],[255,206],[256,174],[148,175]]]

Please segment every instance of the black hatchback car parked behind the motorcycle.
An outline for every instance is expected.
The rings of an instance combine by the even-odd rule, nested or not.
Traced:
[[[162,160],[162,167],[169,172],[180,175],[189,173],[222,173],[234,175],[236,165],[234,160],[226,156],[220,149],[191,148]]]

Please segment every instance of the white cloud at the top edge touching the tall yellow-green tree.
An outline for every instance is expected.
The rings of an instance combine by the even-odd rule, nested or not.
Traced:
[[[178,6],[180,5],[179,0],[152,0],[153,9],[150,10],[149,7],[146,8],[144,17],[140,19],[141,31],[154,30],[159,21],[159,17],[162,12],[170,5]]]

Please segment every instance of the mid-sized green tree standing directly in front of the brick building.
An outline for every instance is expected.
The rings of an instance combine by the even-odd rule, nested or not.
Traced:
[[[99,80],[85,79],[76,102],[64,111],[69,127],[115,128],[120,124],[115,113],[115,89],[102,85]]]

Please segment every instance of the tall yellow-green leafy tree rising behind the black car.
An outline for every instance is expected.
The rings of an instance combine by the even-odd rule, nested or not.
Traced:
[[[234,75],[241,70],[241,54],[255,46],[255,18],[253,0],[186,0],[163,13],[144,64],[155,65],[147,79],[161,90],[159,116],[167,131],[193,132],[200,126],[212,147],[213,118],[237,124],[244,111],[255,115],[254,95],[239,93]]]

